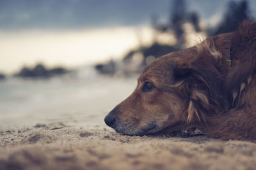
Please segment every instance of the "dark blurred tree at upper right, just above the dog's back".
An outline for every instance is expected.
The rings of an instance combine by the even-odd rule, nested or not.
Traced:
[[[230,1],[230,3],[228,3],[228,10],[223,18],[220,25],[215,29],[216,31],[209,34],[210,36],[236,31],[238,25],[243,22],[243,20],[250,18],[248,2],[246,0]]]

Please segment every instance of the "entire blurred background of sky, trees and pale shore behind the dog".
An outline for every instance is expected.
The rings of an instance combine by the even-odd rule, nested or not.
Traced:
[[[253,0],[0,0],[0,126],[100,127],[157,57],[235,31]]]

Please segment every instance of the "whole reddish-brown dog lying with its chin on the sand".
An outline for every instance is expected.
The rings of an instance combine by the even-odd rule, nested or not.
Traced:
[[[105,122],[127,135],[196,127],[212,138],[256,139],[255,69],[256,22],[246,21],[156,59]]]

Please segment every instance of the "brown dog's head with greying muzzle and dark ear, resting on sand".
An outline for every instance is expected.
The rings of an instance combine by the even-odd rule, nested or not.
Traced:
[[[206,122],[225,108],[221,87],[228,71],[216,39],[169,53],[155,60],[138,78],[131,96],[105,117],[107,125],[127,135],[176,131],[193,122]],[[225,66],[223,66],[225,64]]]

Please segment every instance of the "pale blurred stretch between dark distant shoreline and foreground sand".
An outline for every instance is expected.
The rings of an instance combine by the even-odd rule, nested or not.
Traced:
[[[136,77],[101,76],[92,67],[47,80],[0,82],[0,126],[68,122],[104,125],[104,116],[136,87]]]

